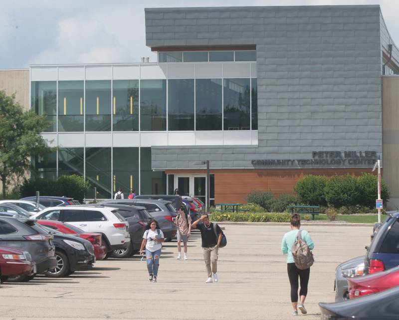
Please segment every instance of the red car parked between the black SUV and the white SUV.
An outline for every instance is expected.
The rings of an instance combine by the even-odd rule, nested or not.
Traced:
[[[84,232],[83,230],[68,223],[54,220],[37,220],[37,223],[50,229],[55,229],[68,235],[77,235],[82,239],[90,241],[94,247],[94,255],[96,256],[96,260],[103,260],[107,255],[107,249],[101,242],[100,233]]]

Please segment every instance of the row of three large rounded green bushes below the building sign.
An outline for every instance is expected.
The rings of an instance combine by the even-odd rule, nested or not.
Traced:
[[[361,206],[375,208],[377,199],[377,176],[364,173],[360,177],[352,175],[313,176],[307,175],[297,182],[294,190],[300,203],[311,206]],[[390,194],[387,185],[381,181],[381,198],[384,203]]]

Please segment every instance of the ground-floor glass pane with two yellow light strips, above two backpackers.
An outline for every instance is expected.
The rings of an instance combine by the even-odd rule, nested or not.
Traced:
[[[125,199],[133,190],[139,193],[139,148],[113,148],[113,184],[115,193],[119,188]]]

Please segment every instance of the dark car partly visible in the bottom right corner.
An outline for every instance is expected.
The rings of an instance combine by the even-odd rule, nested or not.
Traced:
[[[339,303],[320,303],[322,320],[398,320],[399,287]]]

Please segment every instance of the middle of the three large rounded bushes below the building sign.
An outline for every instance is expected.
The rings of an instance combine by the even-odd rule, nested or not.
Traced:
[[[331,177],[324,190],[327,204],[334,208],[357,205],[359,202],[358,180],[349,174]]]

